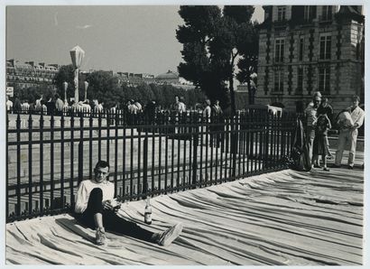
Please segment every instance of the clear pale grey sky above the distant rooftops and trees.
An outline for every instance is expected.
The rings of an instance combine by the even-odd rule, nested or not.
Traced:
[[[255,7],[253,19],[262,22],[262,6]],[[85,51],[81,70],[177,71],[178,11],[179,5],[8,5],[6,60],[65,65],[79,45]]]

